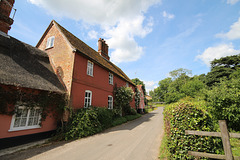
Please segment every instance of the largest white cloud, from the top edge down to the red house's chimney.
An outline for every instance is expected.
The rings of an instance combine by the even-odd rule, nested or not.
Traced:
[[[120,63],[135,61],[144,54],[135,37],[143,38],[152,31],[153,19],[144,13],[161,0],[28,0],[30,3],[45,8],[57,17],[83,20],[89,25],[101,26],[109,47],[113,49],[111,59]],[[89,37],[95,38],[94,32]],[[105,38],[105,37],[104,37]]]

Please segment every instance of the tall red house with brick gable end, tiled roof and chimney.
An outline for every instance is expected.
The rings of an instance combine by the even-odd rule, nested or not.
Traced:
[[[36,47],[48,53],[74,109],[90,105],[113,108],[114,86],[135,89],[128,76],[110,61],[103,39],[98,40],[97,52],[53,20]],[[131,107],[135,108],[134,100]]]

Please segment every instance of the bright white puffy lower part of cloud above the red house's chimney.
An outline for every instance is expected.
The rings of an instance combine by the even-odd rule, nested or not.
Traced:
[[[111,53],[111,60],[115,63],[136,61],[143,55],[143,47],[134,40],[135,36],[144,37],[152,31],[151,20],[143,26],[144,17],[136,16],[133,20],[120,20],[111,28],[105,28],[104,36],[109,37],[107,43],[115,50]]]

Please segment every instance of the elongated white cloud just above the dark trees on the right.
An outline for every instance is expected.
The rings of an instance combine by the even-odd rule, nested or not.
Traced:
[[[208,67],[210,67],[210,62],[215,58],[218,59],[239,53],[240,50],[235,50],[232,44],[221,44],[215,47],[208,47],[201,55],[197,55],[196,59],[202,60]]]

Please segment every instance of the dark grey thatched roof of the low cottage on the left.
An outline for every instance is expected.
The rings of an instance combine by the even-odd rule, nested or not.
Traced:
[[[64,92],[48,55],[13,37],[0,35],[0,84]]]

